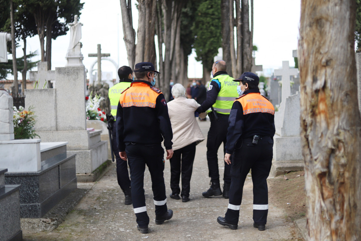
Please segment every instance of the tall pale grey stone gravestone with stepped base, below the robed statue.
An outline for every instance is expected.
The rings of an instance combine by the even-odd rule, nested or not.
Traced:
[[[100,140],[101,130],[86,129],[85,67],[55,68],[55,81],[55,89],[26,89],[25,107],[33,106],[43,141],[68,142],[68,155],[77,154],[79,180],[108,159],[107,143]]]

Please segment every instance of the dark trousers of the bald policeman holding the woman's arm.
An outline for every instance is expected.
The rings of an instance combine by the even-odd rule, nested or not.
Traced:
[[[211,180],[219,180],[219,169],[218,169],[218,156],[217,152],[219,146],[223,142],[223,152],[226,154],[226,143],[227,143],[227,129],[228,129],[228,118],[229,115],[222,115],[217,113],[219,120],[214,118],[213,113],[209,113],[210,127],[207,136],[207,162],[208,162],[208,176]],[[223,157],[224,157],[223,155]],[[223,158],[224,159],[224,158]],[[223,181],[227,184],[231,183],[231,167],[225,163],[225,171],[223,173]]]

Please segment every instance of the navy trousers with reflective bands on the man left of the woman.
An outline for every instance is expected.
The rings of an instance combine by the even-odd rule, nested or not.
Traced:
[[[140,227],[144,227],[149,224],[143,189],[145,165],[147,165],[151,174],[156,217],[168,211],[163,177],[164,150],[161,144],[126,143],[125,152],[130,167],[130,184],[136,222]]]

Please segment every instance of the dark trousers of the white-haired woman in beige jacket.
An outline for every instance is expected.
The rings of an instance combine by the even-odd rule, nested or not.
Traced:
[[[193,161],[196,154],[196,143],[175,150],[170,162],[170,188],[173,194],[189,197]],[[182,173],[182,192],[179,188],[179,178]]]

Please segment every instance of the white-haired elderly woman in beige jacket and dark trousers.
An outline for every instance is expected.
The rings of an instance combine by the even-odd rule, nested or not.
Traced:
[[[181,84],[172,87],[174,100],[168,102],[168,113],[173,129],[173,157],[170,159],[170,197],[188,202],[193,161],[196,145],[205,138],[195,118],[195,110],[200,106],[194,99],[186,98],[186,89]],[[205,118],[201,113],[200,117]],[[179,177],[182,173],[182,191],[179,188]]]

